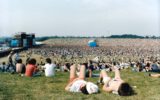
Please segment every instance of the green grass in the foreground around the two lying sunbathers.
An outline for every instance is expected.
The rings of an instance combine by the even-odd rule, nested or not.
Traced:
[[[113,73],[109,73],[113,76]],[[122,71],[122,78],[129,82],[136,94],[121,97],[101,90],[99,94],[84,95],[64,91],[69,73],[57,72],[55,77],[21,77],[17,74],[0,73],[0,100],[160,100],[160,78],[148,73]],[[87,80],[96,82],[98,78]],[[99,86],[100,89],[102,86]]]

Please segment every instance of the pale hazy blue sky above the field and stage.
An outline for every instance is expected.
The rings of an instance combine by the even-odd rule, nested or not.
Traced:
[[[160,0],[0,0],[0,37],[160,36]]]

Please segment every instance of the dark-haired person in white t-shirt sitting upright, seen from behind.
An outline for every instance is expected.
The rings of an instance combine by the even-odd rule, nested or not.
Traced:
[[[55,75],[55,67],[56,65],[52,63],[50,58],[46,59],[46,64],[43,66],[45,69],[45,76],[51,77]]]

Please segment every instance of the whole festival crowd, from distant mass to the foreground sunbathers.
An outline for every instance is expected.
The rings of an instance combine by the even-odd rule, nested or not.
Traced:
[[[84,94],[99,92],[96,84],[85,80],[86,77],[99,77],[97,83],[104,84],[104,91],[122,96],[132,95],[133,89],[121,79],[120,70],[130,68],[134,72],[160,72],[160,44],[157,41],[112,42],[95,48],[84,45],[43,45],[22,51],[25,59],[13,51],[8,55],[8,62],[0,64],[0,72],[27,77],[41,76],[43,72],[46,77],[54,76],[56,71],[70,72],[65,90]],[[38,58],[33,55],[38,55]],[[95,74],[94,70],[100,73]],[[107,75],[109,71],[115,72],[114,78]],[[160,77],[159,74],[149,76]]]

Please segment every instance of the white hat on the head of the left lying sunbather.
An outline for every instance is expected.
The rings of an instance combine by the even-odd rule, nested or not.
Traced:
[[[98,86],[91,82],[87,82],[86,88],[87,88],[88,94],[98,93]]]

